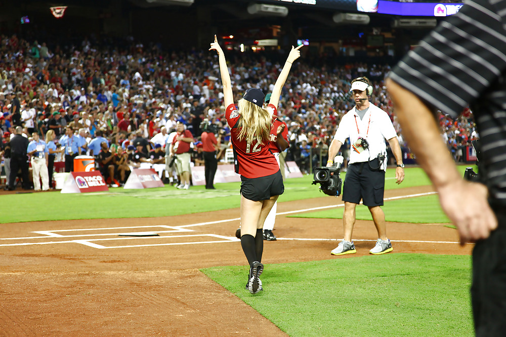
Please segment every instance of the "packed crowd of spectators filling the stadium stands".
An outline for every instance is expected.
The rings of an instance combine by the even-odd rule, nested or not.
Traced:
[[[17,35],[0,36],[0,49],[0,151],[7,180],[9,141],[15,133],[29,140],[37,133],[38,141],[51,149],[49,157],[54,156],[55,163],[66,162],[67,172],[75,156],[94,156],[112,186],[124,184],[130,168],[141,163],[166,162],[166,170],[172,171],[169,148],[177,137],[178,123],[191,132],[194,165],[203,164],[199,149],[204,120],[223,134],[219,157],[224,160],[230,130],[224,118],[218,59],[208,51],[165,52],[157,44],[147,47],[133,38],[93,37],[64,49]],[[235,100],[250,87],[272,91],[284,55],[277,51],[228,53]],[[371,103],[389,113],[403,155],[409,159],[383,82],[388,71],[386,63],[337,65],[314,59],[294,67],[278,109],[288,125],[290,147],[285,160],[296,161],[308,174],[326,163],[335,128],[354,106],[349,99],[350,81],[359,76],[373,83]],[[455,160],[464,160],[463,149],[477,137],[471,111],[457,120],[440,114],[440,124]],[[17,126],[22,130],[16,131]],[[53,163],[47,160],[46,165],[52,188]],[[166,182],[174,183],[173,172],[167,173],[171,178]]]

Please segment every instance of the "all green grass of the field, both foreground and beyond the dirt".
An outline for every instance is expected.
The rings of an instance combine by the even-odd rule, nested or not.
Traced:
[[[406,168],[405,173],[405,181],[397,185],[395,170],[389,169],[385,188],[430,184],[419,168]],[[311,185],[312,180],[287,179],[279,202],[331,198]],[[3,195],[0,222],[170,216],[239,207],[239,183],[216,187]],[[342,203],[341,198],[335,203]],[[384,209],[388,221],[448,221],[435,195],[387,201]],[[303,216],[341,217],[342,208]],[[357,216],[368,219],[367,208],[357,207]],[[262,275],[265,290],[255,296],[244,290],[245,266],[203,272],[291,336],[471,336],[470,268],[469,256],[398,253],[272,264]]]

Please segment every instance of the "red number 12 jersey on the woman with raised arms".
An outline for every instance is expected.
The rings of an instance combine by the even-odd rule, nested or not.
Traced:
[[[276,108],[274,106],[271,107],[274,113],[276,113]],[[230,127],[236,173],[246,178],[259,178],[279,171],[278,163],[274,155],[269,151],[268,143],[262,145],[256,140],[248,143],[245,139],[238,139],[239,127],[236,124],[239,121],[240,115],[239,110],[234,104],[227,107],[225,118],[227,118]]]

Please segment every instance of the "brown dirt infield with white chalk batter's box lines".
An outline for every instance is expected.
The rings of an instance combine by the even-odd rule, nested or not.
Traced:
[[[430,191],[429,186],[402,188],[386,191],[385,197]],[[341,203],[330,197],[281,202],[277,211]],[[285,335],[198,270],[247,263],[233,236],[238,217],[233,209],[2,224],[0,336]],[[160,236],[118,236],[151,231]],[[335,239],[342,237],[341,220],[281,214],[274,233],[279,239],[264,245],[267,265],[350,258],[330,255]],[[358,220],[353,236],[354,256],[367,255],[376,230],[371,221]],[[439,224],[389,222],[388,236],[394,253],[467,255],[472,250],[472,245],[455,244],[456,231]]]

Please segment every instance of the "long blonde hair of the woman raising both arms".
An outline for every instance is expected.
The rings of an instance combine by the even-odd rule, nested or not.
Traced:
[[[240,127],[239,140],[246,139],[247,142],[256,140],[261,144],[264,144],[264,141],[267,142],[271,132],[271,113],[244,99],[240,99],[238,105],[241,116],[237,125]]]

